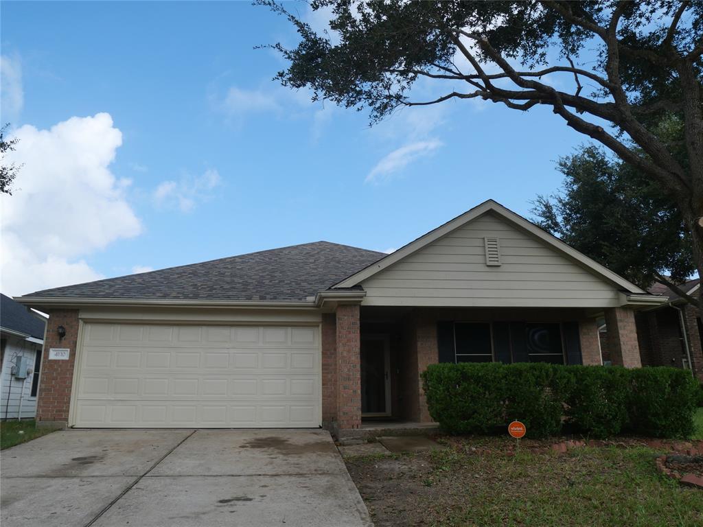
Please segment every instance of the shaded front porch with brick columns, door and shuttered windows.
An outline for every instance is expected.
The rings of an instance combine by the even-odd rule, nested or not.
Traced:
[[[420,378],[432,363],[601,365],[604,314],[613,363],[640,366],[632,308],[339,305],[323,315],[323,426],[340,438],[432,430]]]

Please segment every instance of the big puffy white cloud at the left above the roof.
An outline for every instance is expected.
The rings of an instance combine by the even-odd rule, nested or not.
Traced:
[[[102,278],[84,257],[141,232],[110,171],[122,133],[112,117],[72,117],[48,130],[25,125],[8,162],[22,164],[13,195],[1,195],[2,290],[25,294]]]

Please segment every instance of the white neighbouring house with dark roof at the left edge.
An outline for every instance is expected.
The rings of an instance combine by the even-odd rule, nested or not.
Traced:
[[[44,317],[0,294],[0,419],[37,413],[45,326]]]

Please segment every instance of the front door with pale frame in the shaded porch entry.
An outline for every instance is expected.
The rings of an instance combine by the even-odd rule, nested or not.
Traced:
[[[361,415],[391,415],[390,351],[387,337],[361,339]]]

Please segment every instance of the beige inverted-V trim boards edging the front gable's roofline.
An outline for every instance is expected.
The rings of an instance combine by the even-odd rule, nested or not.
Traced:
[[[501,216],[503,219],[510,221],[510,223],[513,223],[515,226],[522,228],[522,230],[525,230],[527,231],[527,233],[533,235],[535,238],[542,240],[550,247],[554,247],[555,249],[557,249],[557,251],[561,252],[562,254],[565,254],[570,259],[576,261],[582,267],[587,268],[595,275],[599,275],[607,282],[610,282],[623,289],[626,289],[628,292],[631,293],[645,295],[648,294],[644,289],[637,287],[632,282],[628,282],[628,280],[625,280],[620,275],[613,273],[612,271],[610,271],[610,269],[600,265],[600,263],[598,263],[597,261],[589,258],[585,254],[574,249],[573,247],[570,247],[569,245],[562,242],[559,238],[556,238],[555,236],[547,233],[546,230],[539,228],[531,221],[527,221],[527,219],[524,219],[522,216],[520,216],[520,214],[515,214],[515,212],[512,212],[510,209],[506,209],[505,207],[503,207],[503,205],[494,200],[485,201],[482,204],[477,205],[477,207],[474,207],[473,209],[470,209],[469,211],[465,212],[464,214],[457,216],[453,220],[444,223],[444,225],[439,226],[434,230],[430,230],[429,233],[420,236],[420,238],[408,243],[408,245],[405,245],[404,247],[401,247],[396,252],[393,252],[388,256],[385,256],[385,258],[375,263],[372,263],[366,268],[363,268],[358,273],[354,273],[354,275],[349,276],[349,278],[345,278],[344,280],[342,280],[342,282],[339,282],[333,287],[354,287],[354,285],[358,285],[359,283],[363,282],[363,280],[366,280],[367,278],[370,278],[370,276],[375,275],[375,273],[382,271],[388,266],[392,266],[397,261],[404,259],[406,256],[413,254],[419,249],[425,247],[426,245],[430,245],[430,243],[434,242],[434,240],[438,240],[442,236],[451,233],[452,230],[463,226],[465,223],[472,221],[473,219],[477,218],[478,216],[481,216],[482,214],[485,214],[486,212],[494,212],[498,214],[498,216]]]

